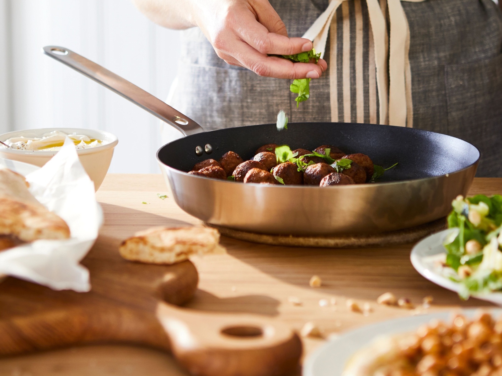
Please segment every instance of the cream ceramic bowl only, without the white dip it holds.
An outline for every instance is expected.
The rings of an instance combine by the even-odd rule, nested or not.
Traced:
[[[85,171],[94,182],[94,189],[97,191],[104,176],[110,166],[111,157],[113,156],[113,148],[118,143],[118,139],[114,134],[95,129],[81,128],[41,128],[41,129],[26,129],[0,134],[0,141],[5,141],[12,137],[42,137],[43,134],[58,130],[67,134],[77,133],[85,134],[89,138],[102,140],[105,143],[88,149],[77,150],[80,162],[85,168]],[[0,157],[5,159],[19,160],[20,162],[34,164],[42,167],[49,159],[51,159],[57,150],[17,150],[10,149],[0,145]]]

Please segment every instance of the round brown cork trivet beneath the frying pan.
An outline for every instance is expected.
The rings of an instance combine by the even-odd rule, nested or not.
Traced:
[[[323,248],[361,248],[383,247],[397,244],[417,242],[426,236],[446,229],[445,218],[438,219],[424,225],[370,235],[334,235],[334,236],[295,236],[257,234],[247,231],[229,229],[226,227],[204,224],[217,229],[221,235],[245,240],[248,242],[290,247],[323,247]]]

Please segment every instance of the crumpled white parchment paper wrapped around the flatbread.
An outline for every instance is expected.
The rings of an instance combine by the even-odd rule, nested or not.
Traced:
[[[26,179],[36,199],[66,221],[71,237],[38,240],[0,252],[0,274],[54,290],[89,291],[89,271],[79,262],[96,241],[103,214],[73,142],[67,138],[61,150]]]

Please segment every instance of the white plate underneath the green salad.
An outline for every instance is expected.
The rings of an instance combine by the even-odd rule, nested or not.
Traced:
[[[458,293],[459,284],[444,276],[443,268],[438,268],[434,263],[434,256],[446,253],[443,240],[451,230],[444,230],[433,234],[418,243],[411,251],[413,267],[429,281]],[[477,299],[486,300],[502,305],[502,292],[489,294],[472,294]]]

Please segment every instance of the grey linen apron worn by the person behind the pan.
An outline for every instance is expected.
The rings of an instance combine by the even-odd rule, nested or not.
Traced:
[[[352,1],[348,3],[351,7]],[[289,35],[300,37],[327,8],[328,0],[271,0],[271,4]],[[410,29],[413,127],[473,143],[482,153],[477,176],[502,176],[502,17],[498,7],[492,0],[426,0],[402,6]],[[341,18],[341,12],[337,10],[335,17]],[[327,51],[328,66],[329,57]],[[227,65],[201,31],[193,28],[182,32],[178,78],[169,102],[206,130],[274,123],[281,109],[290,122],[329,122],[330,74],[339,72],[328,70],[312,80],[310,99],[297,109],[295,94],[289,91],[291,80],[259,77]],[[365,80],[365,90],[368,85]],[[343,113],[342,97],[338,113]],[[343,121],[340,116],[338,120]],[[365,108],[364,122],[370,120],[374,119]]]

